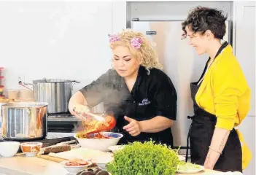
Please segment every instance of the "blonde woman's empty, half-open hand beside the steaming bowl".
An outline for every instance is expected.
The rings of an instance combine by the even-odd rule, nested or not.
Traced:
[[[129,122],[128,125],[125,125],[123,129],[131,134],[131,136],[138,136],[141,133],[141,126],[137,120],[126,117],[125,120]]]

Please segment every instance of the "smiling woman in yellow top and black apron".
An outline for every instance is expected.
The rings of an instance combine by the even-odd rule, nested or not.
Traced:
[[[251,154],[235,127],[247,116],[251,95],[231,45],[222,41],[226,19],[220,10],[197,7],[182,23],[198,55],[209,55],[201,78],[190,85],[195,115],[188,138],[193,163],[242,171]]]

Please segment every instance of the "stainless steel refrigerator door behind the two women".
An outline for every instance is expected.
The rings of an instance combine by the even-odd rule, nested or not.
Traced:
[[[190,82],[198,81],[209,58],[207,55],[198,56],[188,44],[188,39],[182,39],[181,23],[182,21],[132,22],[134,31],[140,31],[155,43],[163,71],[171,78],[177,90],[177,121],[171,127],[175,147],[187,146],[187,133],[191,123],[187,115],[193,115]],[[228,32],[225,39],[228,40]]]

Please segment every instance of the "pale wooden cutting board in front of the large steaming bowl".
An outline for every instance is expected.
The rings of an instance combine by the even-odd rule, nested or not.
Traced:
[[[37,155],[37,158],[51,160],[54,162],[62,162],[64,160],[69,160],[71,158],[81,158],[86,160],[92,160],[98,156],[109,155],[109,154],[112,154],[112,153],[101,152],[99,150],[79,147],[79,148],[71,149],[70,151],[66,151],[66,152],[58,152],[58,153],[51,152],[49,155]]]

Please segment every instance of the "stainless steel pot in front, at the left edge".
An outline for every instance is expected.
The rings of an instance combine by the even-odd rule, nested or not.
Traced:
[[[16,102],[1,105],[4,139],[32,140],[47,136],[47,103]]]

